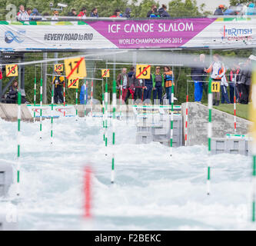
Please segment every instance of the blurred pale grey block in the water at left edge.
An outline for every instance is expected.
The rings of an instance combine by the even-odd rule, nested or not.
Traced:
[[[0,163],[0,197],[8,193],[8,188],[12,184],[12,175],[12,165],[2,161]]]

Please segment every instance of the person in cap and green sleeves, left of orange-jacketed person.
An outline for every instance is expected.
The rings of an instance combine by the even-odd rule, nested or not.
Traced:
[[[158,97],[158,100],[160,100],[160,104],[161,104],[163,87],[165,86],[165,78],[164,78],[164,75],[161,74],[160,67],[155,68],[155,73],[152,74],[152,80],[153,80],[153,101],[155,103],[155,100]]]

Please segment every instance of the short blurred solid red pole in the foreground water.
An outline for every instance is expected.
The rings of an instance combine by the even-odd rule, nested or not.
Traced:
[[[84,218],[91,218],[91,168],[85,167],[84,172],[84,192],[85,192],[85,205],[84,205]]]

